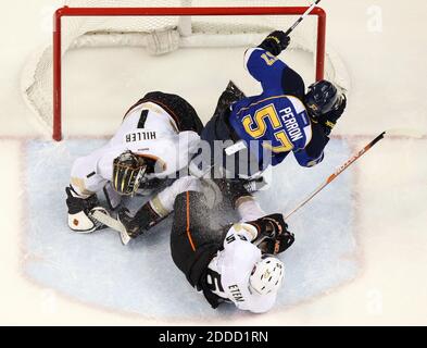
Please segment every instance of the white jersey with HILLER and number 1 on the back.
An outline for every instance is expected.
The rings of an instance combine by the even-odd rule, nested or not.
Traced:
[[[127,150],[155,161],[148,179],[165,178],[188,165],[199,141],[196,132],[179,132],[165,110],[146,102],[128,112],[105,146],[74,162],[71,184],[81,197],[98,192],[112,179],[114,159]]]

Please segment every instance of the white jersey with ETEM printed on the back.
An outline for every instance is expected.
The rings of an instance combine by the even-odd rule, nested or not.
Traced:
[[[254,264],[262,259],[261,250],[251,243],[255,236],[247,224],[234,225],[224,240],[224,249],[209,264],[206,281],[215,295],[240,310],[264,313],[273,308],[277,293],[259,295],[249,286]]]

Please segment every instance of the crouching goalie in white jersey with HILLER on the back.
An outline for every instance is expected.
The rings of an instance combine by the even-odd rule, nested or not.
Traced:
[[[123,196],[147,195],[185,169],[197,151],[203,128],[194,109],[183,98],[150,92],[126,113],[121,127],[102,148],[74,162],[66,188],[68,226],[77,233],[102,227],[90,212],[100,207],[97,194],[104,191],[109,208],[121,206]],[[168,189],[151,198],[136,214],[130,237],[172,211],[164,207]],[[126,219],[126,211],[122,212]],[[137,224],[137,227],[135,225]]]

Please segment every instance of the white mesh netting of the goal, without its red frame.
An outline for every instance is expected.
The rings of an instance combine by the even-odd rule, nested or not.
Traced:
[[[71,8],[147,7],[284,7],[309,5],[292,0],[66,0]],[[143,46],[162,54],[186,47],[227,47],[258,45],[274,29],[286,30],[296,16],[80,16],[65,17],[62,24],[62,54],[79,47]],[[290,49],[315,52],[316,20],[305,20],[294,33]],[[334,52],[328,52],[326,77],[348,89],[348,75]],[[313,54],[315,59],[315,54]],[[36,112],[48,134],[53,127],[52,47],[39,49],[23,74],[25,100]]]

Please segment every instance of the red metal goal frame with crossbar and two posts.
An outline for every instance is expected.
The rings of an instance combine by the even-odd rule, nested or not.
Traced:
[[[62,139],[62,18],[68,16],[244,16],[303,15],[310,7],[265,8],[68,8],[54,13],[53,29],[53,139]],[[326,12],[314,8],[317,16],[316,80],[324,78],[326,54]],[[285,28],[277,28],[285,29]]]

